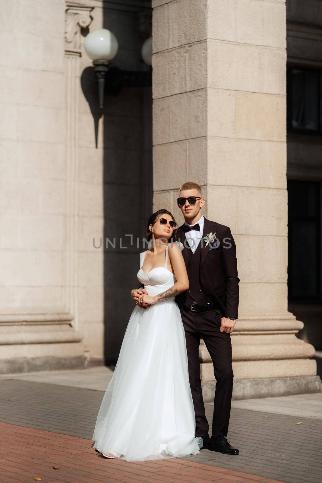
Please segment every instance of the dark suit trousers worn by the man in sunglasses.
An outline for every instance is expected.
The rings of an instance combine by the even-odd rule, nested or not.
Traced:
[[[215,311],[182,312],[186,332],[188,372],[196,415],[196,436],[208,436],[209,425],[201,392],[199,345],[203,339],[214,365],[216,379],[212,438],[227,436],[233,387],[230,334],[220,332],[221,315]]]

